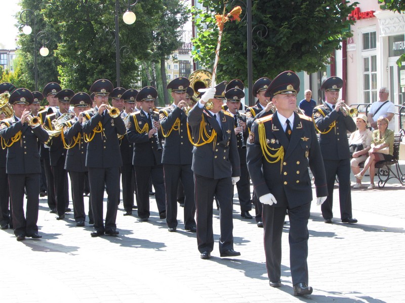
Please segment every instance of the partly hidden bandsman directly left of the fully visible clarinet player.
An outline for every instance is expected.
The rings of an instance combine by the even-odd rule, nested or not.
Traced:
[[[125,111],[121,114],[126,125],[129,122],[130,115],[135,108],[135,100],[138,90],[131,88],[126,90],[121,98],[124,100]],[[134,158],[134,143],[128,141],[127,134],[120,138],[121,157],[123,158],[123,166],[121,167],[121,182],[123,184],[123,204],[124,216],[132,215],[132,209],[136,208],[134,205],[134,190],[136,186],[135,168],[132,164]]]

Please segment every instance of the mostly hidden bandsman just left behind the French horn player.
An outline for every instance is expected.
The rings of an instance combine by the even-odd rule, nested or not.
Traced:
[[[57,112],[58,98],[55,97],[55,95],[60,90],[62,90],[62,88],[56,82],[50,82],[47,85],[45,85],[42,94],[47,99],[49,105],[47,113],[52,114]],[[39,117],[41,118],[42,116]],[[45,117],[41,122],[42,123],[45,122]],[[41,155],[41,159],[44,160],[45,176],[47,178],[47,199],[48,199],[48,206],[50,209],[49,212],[56,214],[57,211],[56,211],[55,182],[54,182],[54,175],[51,169],[49,146],[46,144],[41,144],[41,146],[39,147],[39,155]]]

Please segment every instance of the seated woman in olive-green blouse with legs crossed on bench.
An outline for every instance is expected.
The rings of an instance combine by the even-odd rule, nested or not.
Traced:
[[[367,172],[367,169],[370,169],[370,186],[368,189],[375,188],[374,174],[376,163],[380,161],[391,161],[394,152],[394,132],[388,129],[388,119],[385,117],[378,118],[377,128],[377,130],[373,131],[373,141],[372,147],[369,150],[369,158],[367,158],[364,168],[355,175],[357,179],[361,180]]]

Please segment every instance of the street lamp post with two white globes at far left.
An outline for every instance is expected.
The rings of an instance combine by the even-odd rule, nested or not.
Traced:
[[[23,18],[25,17],[25,18]],[[34,27],[34,79],[35,79],[35,90],[38,90],[38,65],[37,65],[37,43],[38,39],[42,41],[42,47],[39,50],[39,54],[41,56],[46,57],[49,54],[49,49],[46,47],[46,44],[48,44],[50,40],[50,35],[46,31],[40,31],[38,33],[35,33],[36,31],[36,19],[35,19],[35,13],[34,11],[30,9],[23,10],[20,14],[20,20],[21,22],[25,23],[24,27],[22,28],[22,31],[24,34],[29,35],[32,32],[32,28],[28,25],[28,23],[32,20],[33,21],[33,27]]]

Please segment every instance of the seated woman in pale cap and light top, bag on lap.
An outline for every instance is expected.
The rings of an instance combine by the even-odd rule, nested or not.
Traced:
[[[351,144],[362,144],[363,149],[355,151],[352,155],[350,161],[351,170],[354,175],[360,172],[359,164],[365,162],[367,157],[369,157],[369,150],[371,148],[371,141],[373,139],[373,133],[368,129],[367,117],[366,115],[360,114],[356,117],[357,130],[352,132],[349,138],[349,145]],[[361,188],[361,180],[356,178],[356,184],[353,188]]]

